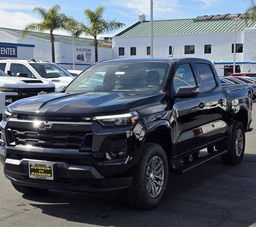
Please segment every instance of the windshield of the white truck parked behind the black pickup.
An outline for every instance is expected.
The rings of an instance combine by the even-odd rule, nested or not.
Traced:
[[[72,75],[58,66],[52,63],[29,63],[42,78],[58,78],[58,77],[72,77]]]

